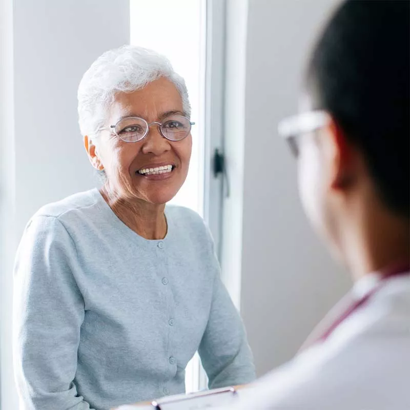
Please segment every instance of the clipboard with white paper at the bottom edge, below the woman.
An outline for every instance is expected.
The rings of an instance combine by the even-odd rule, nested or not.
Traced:
[[[116,410],[200,410],[230,405],[237,399],[237,394],[235,387],[223,387],[161,398],[153,400],[150,404],[120,406]]]

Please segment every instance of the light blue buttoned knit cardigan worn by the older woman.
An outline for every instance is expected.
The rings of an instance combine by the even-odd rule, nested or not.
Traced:
[[[40,209],[15,265],[14,346],[27,409],[105,410],[185,391],[196,350],[209,387],[254,380],[213,242],[167,207],[167,237],[138,236],[98,190]]]

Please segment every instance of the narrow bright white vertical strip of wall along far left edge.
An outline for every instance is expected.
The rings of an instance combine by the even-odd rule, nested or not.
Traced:
[[[15,409],[11,356],[11,269],[14,254],[13,2],[0,2],[0,408]]]

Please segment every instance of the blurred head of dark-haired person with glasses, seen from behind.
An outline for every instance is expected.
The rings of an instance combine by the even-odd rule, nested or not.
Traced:
[[[409,2],[344,2],[311,53],[300,113],[279,125],[305,213],[348,264],[360,229],[408,237],[409,15]]]

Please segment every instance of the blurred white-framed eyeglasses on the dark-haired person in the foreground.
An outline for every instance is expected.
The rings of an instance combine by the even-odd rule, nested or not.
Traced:
[[[304,112],[282,119],[278,125],[278,133],[288,141],[292,154],[298,157],[297,137],[324,127],[330,118],[329,113],[322,110]]]

